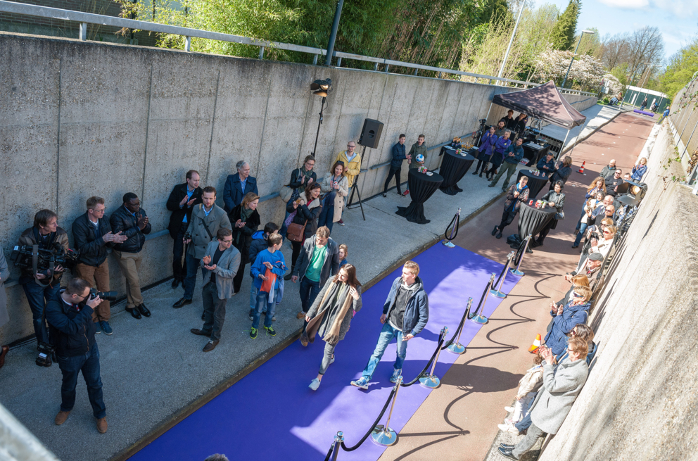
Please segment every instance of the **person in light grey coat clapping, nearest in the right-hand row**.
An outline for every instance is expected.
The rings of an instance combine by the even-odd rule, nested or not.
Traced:
[[[531,410],[531,427],[528,427],[526,437],[516,445],[502,445],[498,448],[500,454],[510,460],[519,460],[523,453],[530,450],[538,437],[543,434],[557,434],[562,426],[572,404],[579,395],[587,380],[587,341],[572,336],[567,344],[569,358],[559,365],[554,365],[554,357],[549,348],[542,348],[543,386],[533,401]]]

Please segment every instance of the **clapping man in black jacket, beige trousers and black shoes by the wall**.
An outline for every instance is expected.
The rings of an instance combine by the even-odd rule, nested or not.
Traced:
[[[141,296],[141,282],[138,270],[141,267],[141,250],[146,243],[146,235],[151,233],[151,225],[148,223],[146,211],[141,208],[141,201],[133,192],[124,194],[124,206],[120,206],[109,218],[112,232],[122,232],[128,239],[114,245],[116,262],[126,277],[126,298],[128,305],[126,311],[135,319],[140,319],[141,314],[151,316],[151,311],[146,308]]]

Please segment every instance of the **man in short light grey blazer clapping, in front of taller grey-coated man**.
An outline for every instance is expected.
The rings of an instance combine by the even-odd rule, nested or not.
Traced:
[[[204,352],[210,352],[220,342],[220,332],[225,321],[225,305],[233,296],[233,277],[240,267],[240,252],[232,246],[233,233],[224,227],[218,229],[217,240],[210,242],[206,254],[201,258],[203,267],[203,314],[205,323],[202,329],[192,328],[190,331],[210,339],[203,347]]]

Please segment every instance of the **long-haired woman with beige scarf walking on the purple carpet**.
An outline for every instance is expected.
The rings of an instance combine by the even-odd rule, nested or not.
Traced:
[[[317,294],[315,303],[307,311],[307,325],[300,335],[303,346],[315,341],[319,334],[325,341],[325,349],[317,377],[310,382],[310,389],[317,391],[327,367],[334,362],[334,349],[349,331],[351,320],[361,309],[361,284],[356,279],[356,268],[345,264],[336,276],[327,279]]]

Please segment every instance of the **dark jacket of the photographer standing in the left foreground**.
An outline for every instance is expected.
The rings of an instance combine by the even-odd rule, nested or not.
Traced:
[[[92,308],[89,305],[68,305],[58,291],[46,303],[46,320],[51,329],[51,343],[56,346],[56,355],[75,357],[89,352],[94,344],[96,331],[92,322]]]

